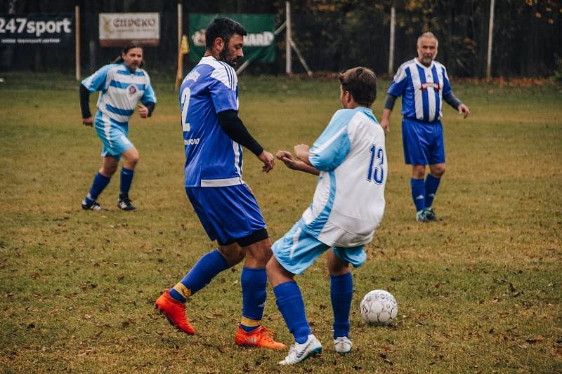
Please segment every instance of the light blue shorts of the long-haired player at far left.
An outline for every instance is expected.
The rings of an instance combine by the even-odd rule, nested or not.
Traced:
[[[96,134],[102,142],[101,156],[113,156],[117,161],[121,154],[133,147],[129,140],[129,123],[117,122],[101,112],[96,113]]]

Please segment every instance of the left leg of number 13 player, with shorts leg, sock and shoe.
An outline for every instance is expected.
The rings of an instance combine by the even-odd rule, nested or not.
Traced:
[[[298,363],[322,352],[322,345],[306,319],[303,297],[294,275],[302,274],[328,248],[303,232],[298,223],[273,244],[273,257],[267,265],[268,278],[273,286],[277,308],[295,340],[287,357],[280,361],[282,365]]]

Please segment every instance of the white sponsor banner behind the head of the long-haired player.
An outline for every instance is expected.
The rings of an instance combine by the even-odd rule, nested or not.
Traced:
[[[100,45],[122,47],[130,41],[157,46],[160,13],[100,13]]]

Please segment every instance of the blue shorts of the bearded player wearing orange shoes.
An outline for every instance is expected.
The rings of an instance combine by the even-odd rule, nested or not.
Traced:
[[[220,245],[266,228],[256,198],[247,185],[185,187],[185,194],[209,239]]]

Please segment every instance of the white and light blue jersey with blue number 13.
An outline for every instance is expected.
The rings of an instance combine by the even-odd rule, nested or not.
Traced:
[[[372,241],[384,213],[388,174],[384,131],[372,110],[338,110],[309,152],[320,176],[299,227],[328,246]]]

